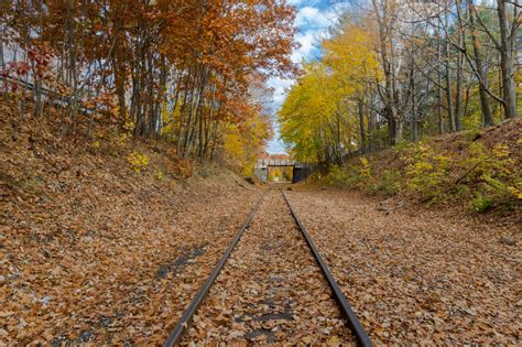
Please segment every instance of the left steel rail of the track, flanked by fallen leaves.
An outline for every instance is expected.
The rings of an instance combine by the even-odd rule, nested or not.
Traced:
[[[264,197],[267,196],[269,191],[264,192],[264,194],[259,198],[259,200],[255,203],[253,206],[252,210],[250,212],[250,215],[248,216],[247,220],[243,223],[239,231],[233,237],[232,241],[230,242],[230,246],[228,246],[227,250],[222,254],[221,259],[217,263],[216,268],[214,268],[213,272],[208,276],[208,279],[205,281],[203,286],[199,289],[197,292],[196,296],[194,300],[191,302],[188,307],[185,310],[183,313],[182,317],[180,318],[180,322],[177,325],[174,327],[174,329],[168,335],[167,339],[163,344],[164,347],[171,347],[181,341],[183,338],[183,335],[188,330],[188,327],[192,323],[192,318],[194,314],[196,313],[197,308],[199,305],[203,303],[205,297],[208,294],[208,291],[210,290],[210,286],[213,285],[214,281],[217,279],[219,272],[221,269],[225,267],[225,263],[227,262],[228,258],[230,257],[233,248],[236,245],[238,245],[239,239],[241,239],[241,236],[243,235],[244,230],[250,226],[252,223],[253,216],[258,212],[259,207],[261,206],[261,203],[263,202]]]

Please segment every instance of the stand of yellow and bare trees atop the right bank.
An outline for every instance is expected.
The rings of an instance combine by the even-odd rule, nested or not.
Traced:
[[[301,160],[340,163],[515,117],[519,9],[501,0],[349,7],[279,112],[284,141]]]

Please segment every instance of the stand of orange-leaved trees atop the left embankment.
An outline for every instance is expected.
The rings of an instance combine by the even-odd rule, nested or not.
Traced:
[[[40,116],[58,105],[64,133],[86,122],[90,131],[97,120],[135,139],[168,139],[182,156],[209,158],[229,131],[265,123],[252,84],[294,72],[294,9],[285,1],[1,6],[4,94],[29,90]]]

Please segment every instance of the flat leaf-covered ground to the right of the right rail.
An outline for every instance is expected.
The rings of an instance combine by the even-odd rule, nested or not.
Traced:
[[[336,191],[289,192],[377,344],[522,343],[522,229]]]

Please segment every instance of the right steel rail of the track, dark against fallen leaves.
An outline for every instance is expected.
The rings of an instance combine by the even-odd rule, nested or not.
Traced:
[[[294,220],[300,227],[301,232],[303,234],[304,238],[306,239],[306,243],[308,243],[308,247],[311,248],[312,253],[314,254],[314,258],[320,268],[320,271],[323,272],[324,276],[326,278],[326,281],[328,282],[331,291],[334,292],[335,300],[337,304],[339,305],[339,308],[341,310],[342,314],[345,315],[348,322],[348,326],[350,327],[351,332],[356,336],[357,343],[360,346],[365,346],[365,347],[372,346],[370,337],[365,332],[365,328],[360,324],[359,319],[357,319],[357,316],[354,310],[351,308],[350,304],[348,303],[348,300],[346,300],[345,294],[342,294],[342,291],[340,290],[339,285],[334,279],[334,275],[331,274],[328,265],[323,260],[323,257],[320,257],[319,251],[315,247],[314,241],[312,240],[312,237],[308,230],[306,230],[305,226],[303,225],[303,223],[301,223],[300,218],[297,217],[297,214],[292,208],[292,205],[290,205],[290,200],[286,197],[286,194],[284,194],[282,189],[280,189],[280,192],[283,194],[284,200],[286,202],[286,205],[289,205],[292,217],[294,217]]]

